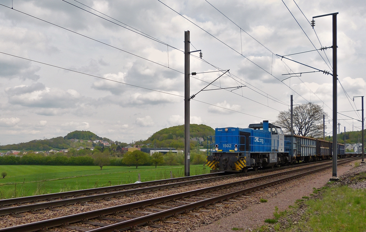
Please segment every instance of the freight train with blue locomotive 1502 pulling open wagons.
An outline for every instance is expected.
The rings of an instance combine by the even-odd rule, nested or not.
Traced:
[[[207,165],[213,172],[247,172],[262,167],[279,167],[296,162],[332,158],[332,142],[299,135],[284,135],[281,127],[263,121],[248,128],[216,128],[208,136]],[[337,144],[338,157],[345,157]],[[353,156],[354,154],[352,154]]]

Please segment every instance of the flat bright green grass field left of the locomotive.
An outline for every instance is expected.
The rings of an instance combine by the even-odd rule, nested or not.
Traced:
[[[191,165],[190,174],[209,173],[210,168]],[[0,165],[0,172],[7,172],[0,178],[0,198],[24,197],[53,192],[80,190],[102,186],[161,180],[184,176],[184,166],[43,166],[43,165]]]

